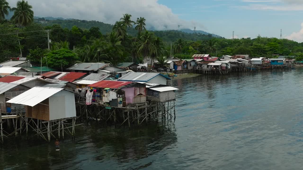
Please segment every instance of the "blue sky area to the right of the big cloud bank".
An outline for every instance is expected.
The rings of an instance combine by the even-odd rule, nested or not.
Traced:
[[[303,22],[303,0],[159,0],[179,18],[200,23],[207,32],[238,38],[298,37]],[[199,26],[197,26],[199,27]],[[201,26],[200,26],[201,27]],[[296,32],[297,34],[291,34]],[[301,35],[302,37],[302,35]]]

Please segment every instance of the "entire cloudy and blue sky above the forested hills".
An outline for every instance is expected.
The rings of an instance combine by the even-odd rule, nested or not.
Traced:
[[[7,0],[15,7],[17,0]],[[196,27],[225,38],[288,38],[303,42],[303,0],[28,0],[35,16],[114,24],[123,14],[145,17],[157,30]]]

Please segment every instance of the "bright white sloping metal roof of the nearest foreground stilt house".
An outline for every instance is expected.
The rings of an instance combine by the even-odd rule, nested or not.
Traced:
[[[63,90],[63,88],[33,87],[26,92],[12,98],[11,100],[8,100],[6,103],[23,104],[33,107],[61,90]]]

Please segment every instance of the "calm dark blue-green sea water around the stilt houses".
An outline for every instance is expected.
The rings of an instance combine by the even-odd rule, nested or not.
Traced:
[[[303,71],[199,76],[178,87],[175,121],[76,128],[76,140],[15,141],[0,169],[302,169]]]

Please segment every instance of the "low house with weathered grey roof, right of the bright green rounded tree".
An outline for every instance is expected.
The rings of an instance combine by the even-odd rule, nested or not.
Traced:
[[[71,72],[78,73],[98,73],[98,70],[102,70],[104,67],[109,66],[108,63],[77,63],[72,67],[67,68]]]

